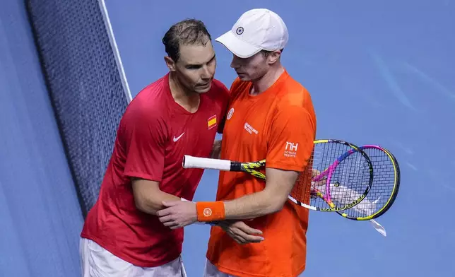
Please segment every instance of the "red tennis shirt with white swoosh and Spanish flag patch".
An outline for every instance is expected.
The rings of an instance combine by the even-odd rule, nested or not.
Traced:
[[[160,182],[162,191],[193,199],[203,170],[184,169],[183,156],[208,158],[228,100],[228,88],[214,80],[191,114],[172,98],[169,73],[141,90],[119,124],[98,201],[85,219],[81,237],[135,266],[161,266],[177,259],[183,228],[170,230],[157,216],[139,211],[131,177]]]

